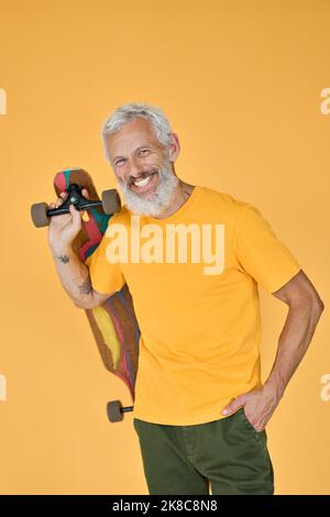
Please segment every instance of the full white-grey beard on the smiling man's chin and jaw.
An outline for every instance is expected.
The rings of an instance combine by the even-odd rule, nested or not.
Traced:
[[[178,183],[177,176],[172,170],[170,162],[167,162],[163,168],[158,168],[158,185],[153,191],[152,199],[143,199],[142,196],[132,193],[128,183],[120,184],[118,182],[118,186],[131,212],[139,216],[157,217],[170,205]]]

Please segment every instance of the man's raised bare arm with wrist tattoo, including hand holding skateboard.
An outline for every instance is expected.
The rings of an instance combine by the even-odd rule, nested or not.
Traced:
[[[86,189],[82,195],[88,197]],[[59,207],[66,193],[50,208]],[[101,294],[92,288],[88,267],[73,250],[73,242],[81,229],[82,212],[70,206],[70,213],[51,218],[48,243],[59,280],[74,304],[82,309],[91,309],[102,304],[113,293]]]

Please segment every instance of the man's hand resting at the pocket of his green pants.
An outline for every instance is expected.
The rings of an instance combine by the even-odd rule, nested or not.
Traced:
[[[274,392],[264,386],[261,389],[253,389],[237,397],[222,410],[222,415],[229,415],[243,407],[251,426],[257,432],[261,432],[266,427],[278,403],[279,399]]]

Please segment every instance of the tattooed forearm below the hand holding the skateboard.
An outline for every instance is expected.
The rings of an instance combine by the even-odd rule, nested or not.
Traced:
[[[92,287],[88,267],[79,260],[72,248],[52,250],[59,280],[77,307],[92,306]]]

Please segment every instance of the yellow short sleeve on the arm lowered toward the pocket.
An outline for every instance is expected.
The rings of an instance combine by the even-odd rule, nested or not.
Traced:
[[[243,270],[267,293],[283,287],[301,268],[297,258],[252,205],[246,205],[238,216],[233,249]]]

